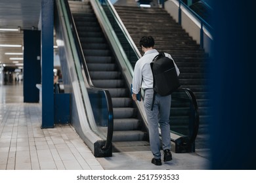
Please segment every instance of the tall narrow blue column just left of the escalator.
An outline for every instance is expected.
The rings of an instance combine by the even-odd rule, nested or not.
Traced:
[[[53,0],[41,0],[42,128],[54,127]]]

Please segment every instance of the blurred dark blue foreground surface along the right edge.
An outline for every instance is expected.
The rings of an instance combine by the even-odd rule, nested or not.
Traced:
[[[213,1],[212,169],[256,169],[256,11],[252,3]]]

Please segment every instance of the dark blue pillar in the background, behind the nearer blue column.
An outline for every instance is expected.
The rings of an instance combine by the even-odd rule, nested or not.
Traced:
[[[39,57],[39,58],[38,58]],[[38,103],[41,83],[41,31],[24,30],[24,103]]]

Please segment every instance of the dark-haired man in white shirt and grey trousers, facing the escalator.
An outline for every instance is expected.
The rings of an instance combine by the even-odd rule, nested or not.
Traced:
[[[148,120],[150,148],[154,156],[151,162],[154,165],[161,165],[161,146],[158,124],[160,124],[161,129],[161,140],[164,154],[163,161],[165,162],[172,160],[171,135],[169,126],[171,95],[161,96],[156,93],[154,98],[154,104],[152,103],[154,90],[153,75],[150,63],[159,53],[156,49],[154,49],[154,38],[151,36],[142,37],[140,39],[139,45],[142,48],[142,52],[144,52],[144,55],[135,64],[132,97],[134,101],[137,101],[137,93],[139,93],[140,87],[145,90],[144,108]],[[165,56],[171,58],[170,54],[165,53]],[[177,71],[177,75],[179,76],[179,69],[176,64],[175,69]]]

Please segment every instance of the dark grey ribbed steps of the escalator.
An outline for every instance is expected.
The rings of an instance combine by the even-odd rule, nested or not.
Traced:
[[[148,133],[143,127],[142,118],[131,99],[129,85],[104,36],[91,3],[69,1],[69,5],[91,82],[96,88],[107,89],[112,98],[114,152],[149,150]]]

